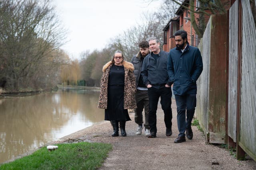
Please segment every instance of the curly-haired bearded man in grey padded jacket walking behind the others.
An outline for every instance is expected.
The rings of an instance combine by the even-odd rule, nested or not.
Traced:
[[[136,135],[142,134],[143,123],[145,127],[145,136],[150,135],[150,127],[148,125],[148,112],[149,112],[149,100],[148,100],[148,88],[146,88],[145,84],[143,83],[142,76],[141,76],[141,67],[144,60],[144,57],[149,54],[149,44],[148,41],[142,41],[139,44],[140,51],[137,55],[132,57],[131,63],[134,65],[134,75],[136,78],[136,94],[135,100],[137,104],[137,108],[134,109],[135,116],[134,120],[135,123],[138,124],[138,129],[136,131]],[[142,111],[144,108],[144,119],[143,122],[143,115]]]

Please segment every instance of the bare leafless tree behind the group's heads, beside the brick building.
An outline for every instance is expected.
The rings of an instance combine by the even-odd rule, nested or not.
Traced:
[[[110,44],[114,49],[123,51],[126,59],[130,61],[132,55],[138,53],[138,45],[141,41],[147,41],[150,37],[156,37],[160,40],[161,44],[163,43],[162,29],[172,16],[174,16],[172,12],[164,16],[162,16],[162,12],[143,13],[140,23],[111,39]]]

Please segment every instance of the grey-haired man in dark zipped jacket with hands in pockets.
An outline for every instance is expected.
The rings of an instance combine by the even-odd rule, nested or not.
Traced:
[[[164,110],[164,123],[166,136],[172,135],[172,90],[171,82],[167,74],[168,52],[160,50],[160,43],[151,37],[148,41],[151,53],[146,56],[142,64],[142,79],[148,88],[150,126],[149,138],[156,137],[156,110],[158,100],[161,98],[162,109]]]

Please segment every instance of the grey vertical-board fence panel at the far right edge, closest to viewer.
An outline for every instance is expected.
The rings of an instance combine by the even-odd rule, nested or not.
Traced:
[[[256,25],[250,0],[242,3],[242,80],[238,145],[256,160]]]

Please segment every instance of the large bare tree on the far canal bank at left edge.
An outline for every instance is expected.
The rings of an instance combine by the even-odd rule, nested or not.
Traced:
[[[64,38],[65,30],[50,0],[1,0],[1,76],[6,78],[8,88],[26,88],[25,82],[62,45]],[[42,76],[48,75],[45,74]]]

